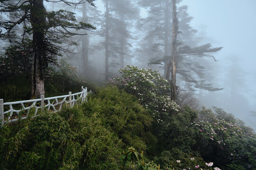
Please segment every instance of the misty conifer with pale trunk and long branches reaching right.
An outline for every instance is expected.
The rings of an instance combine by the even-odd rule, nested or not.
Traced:
[[[164,68],[164,77],[172,79],[172,99],[177,98],[176,83],[190,91],[221,90],[222,88],[215,88],[207,83],[209,75],[205,73],[209,68],[204,63],[208,57],[216,61],[211,53],[220,51],[222,47],[212,48],[210,43],[200,45],[199,37],[196,36],[197,30],[190,26],[192,17],[187,13],[188,7],[176,7],[182,0],[138,1],[148,12],[139,25],[146,30],[146,34],[143,42],[138,45],[138,59],[144,62],[144,56],[147,56],[150,67],[154,67],[154,64]]]

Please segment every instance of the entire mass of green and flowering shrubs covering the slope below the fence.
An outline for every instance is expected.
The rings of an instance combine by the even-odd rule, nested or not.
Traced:
[[[256,136],[242,121],[178,106],[155,71],[120,73],[82,105],[0,128],[0,169],[256,170]]]

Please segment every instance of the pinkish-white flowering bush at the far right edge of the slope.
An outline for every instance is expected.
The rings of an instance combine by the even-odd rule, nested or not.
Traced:
[[[230,169],[256,167],[256,136],[250,127],[219,108],[203,107],[199,115],[204,115],[204,120],[193,122],[192,128],[196,130],[197,147],[204,159],[228,165]]]

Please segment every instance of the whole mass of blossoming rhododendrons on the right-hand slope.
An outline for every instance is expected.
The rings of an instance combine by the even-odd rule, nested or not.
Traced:
[[[232,114],[219,108],[203,107],[199,112],[189,107],[181,110],[170,99],[170,82],[160,73],[134,66],[127,66],[119,72],[120,76],[113,77],[108,84],[136,96],[155,118],[154,129],[150,130],[157,141],[148,148],[154,148],[150,154],[155,155],[154,162],[161,168],[254,170],[255,135]],[[190,156],[196,159],[190,160]]]

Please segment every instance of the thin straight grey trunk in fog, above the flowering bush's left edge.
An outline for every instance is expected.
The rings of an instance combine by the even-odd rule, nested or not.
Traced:
[[[109,78],[109,51],[110,51],[110,26],[109,26],[109,17],[110,17],[110,9],[108,0],[105,3],[105,18],[106,18],[106,28],[105,28],[105,81]]]

